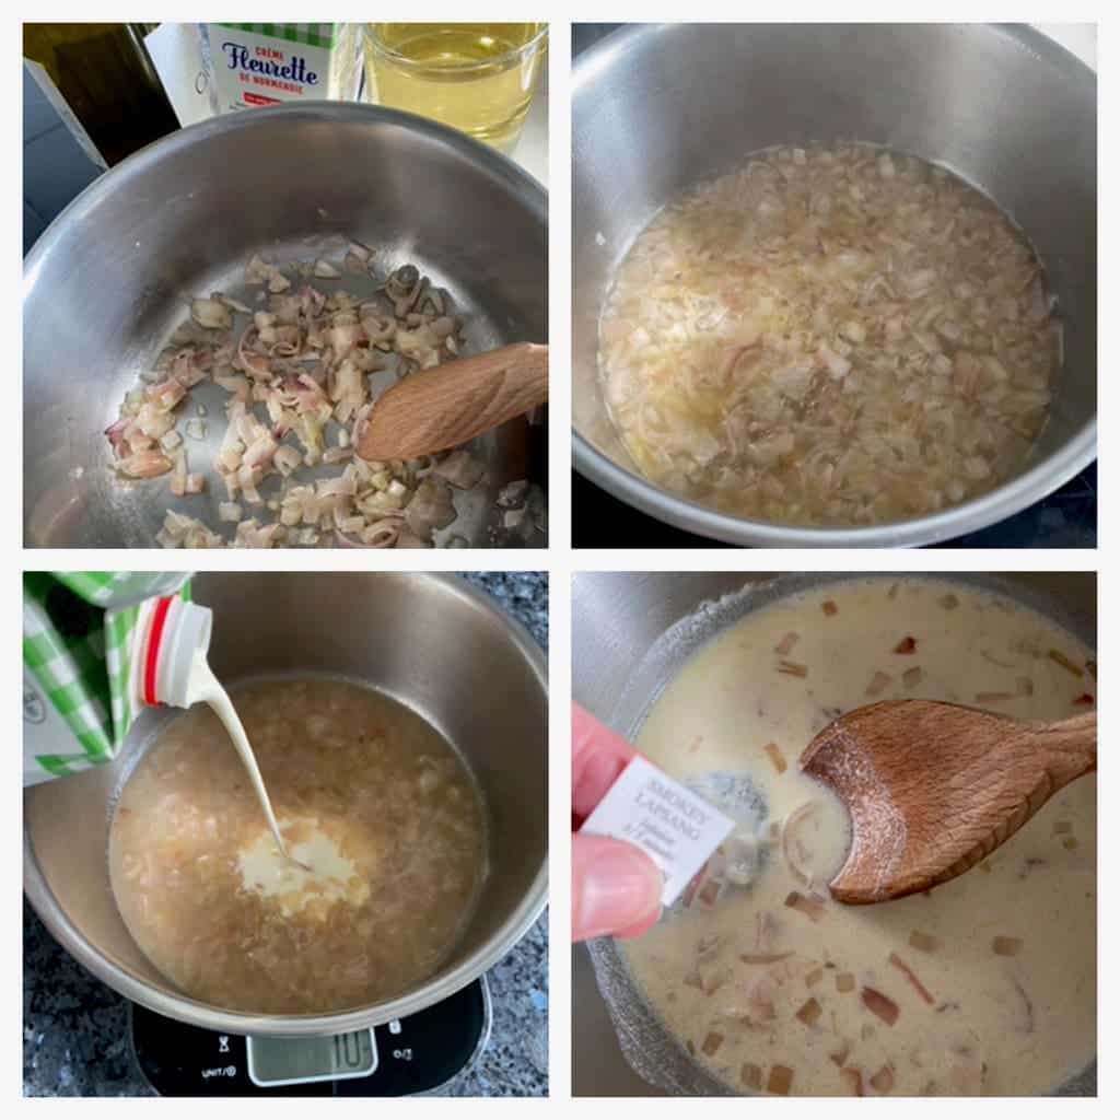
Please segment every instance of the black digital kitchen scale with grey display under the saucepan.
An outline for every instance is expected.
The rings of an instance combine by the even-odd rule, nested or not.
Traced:
[[[132,1053],[160,1096],[408,1096],[472,1065],[489,1038],[480,977],[407,1019],[321,1038],[246,1038],[132,1005]]]

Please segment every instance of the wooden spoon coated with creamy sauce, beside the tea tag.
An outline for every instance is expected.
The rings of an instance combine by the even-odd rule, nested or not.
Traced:
[[[989,856],[1096,769],[1096,713],[1019,724],[959,704],[892,700],[841,716],[801,756],[851,815],[829,888],[842,903],[902,898]]]

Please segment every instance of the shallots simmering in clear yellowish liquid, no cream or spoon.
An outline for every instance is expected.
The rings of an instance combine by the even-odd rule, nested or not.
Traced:
[[[1057,330],[1026,239],[943,168],[781,148],[640,234],[599,367],[657,485],[741,517],[871,525],[1019,472]]]

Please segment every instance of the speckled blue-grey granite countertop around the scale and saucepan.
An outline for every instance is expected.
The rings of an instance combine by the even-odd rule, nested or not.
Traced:
[[[548,646],[548,576],[464,573]],[[548,915],[488,973],[491,1039],[447,1096],[548,1093]],[[150,1096],[127,1038],[128,1001],[81,968],[24,904],[24,1094]]]

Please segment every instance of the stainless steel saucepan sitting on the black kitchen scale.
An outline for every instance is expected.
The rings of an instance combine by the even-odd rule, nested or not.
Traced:
[[[477,909],[439,971],[383,1002],[329,1015],[249,1015],[192,999],[140,952],[109,883],[116,799],[167,722],[148,709],[108,766],[36,786],[24,800],[24,887],[85,968],[160,1015],[242,1035],[340,1034],[421,1010],[504,956],[544,907],[548,687],[539,646],[486,596],[448,576],[209,573],[211,664],[227,684],[315,674],[368,684],[408,704],[459,752],[482,792],[488,872]]]

